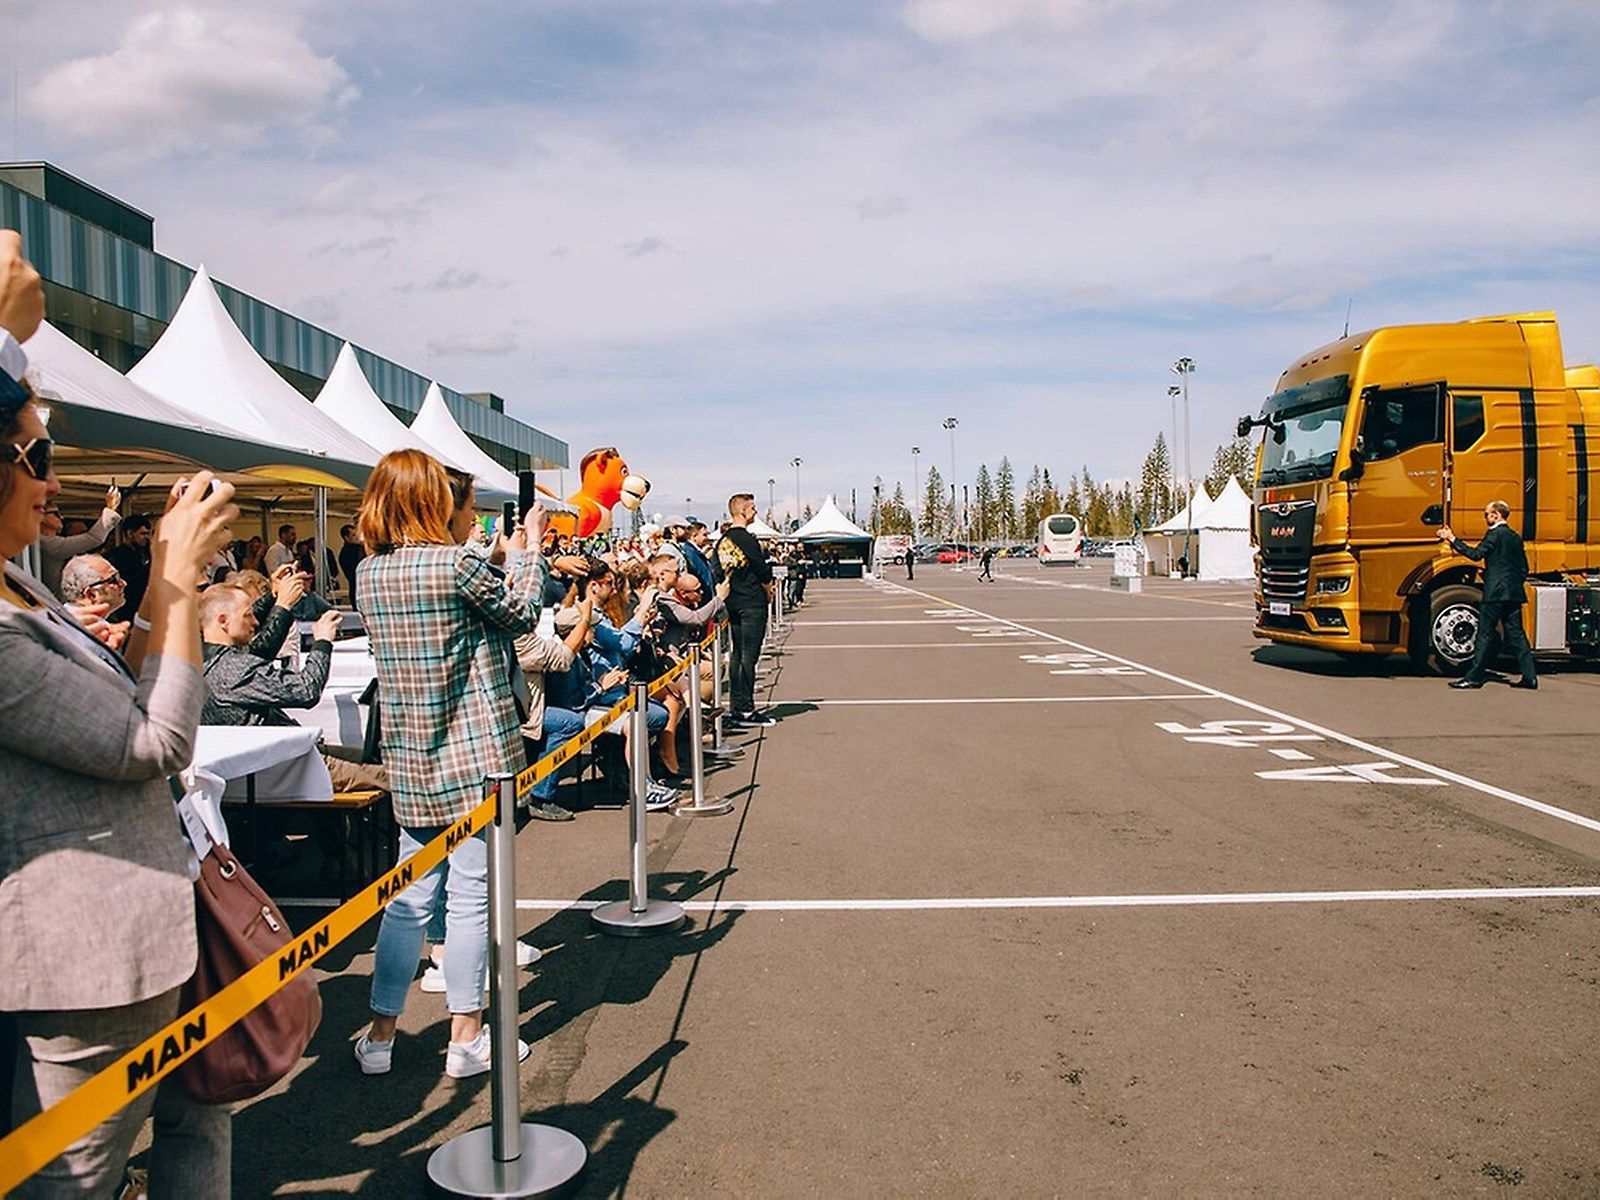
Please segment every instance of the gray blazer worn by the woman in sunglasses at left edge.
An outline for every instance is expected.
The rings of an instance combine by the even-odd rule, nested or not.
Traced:
[[[150,656],[134,680],[37,579],[0,602],[0,1010],[112,1008],[195,966],[192,851],[166,776],[205,685]]]

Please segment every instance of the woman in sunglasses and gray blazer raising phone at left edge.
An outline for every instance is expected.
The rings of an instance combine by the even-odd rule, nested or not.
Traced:
[[[61,491],[26,386],[0,376],[0,558]],[[0,1011],[11,1118],[58,1104],[178,1016],[195,968],[192,851],[166,776],[189,765],[205,685],[195,582],[238,515],[200,472],[173,488],[128,662],[11,563],[0,581]],[[134,674],[138,670],[138,674]],[[227,1195],[229,1112],[174,1080],[101,1122],[14,1197],[109,1195],[155,1112],[150,1195]]]

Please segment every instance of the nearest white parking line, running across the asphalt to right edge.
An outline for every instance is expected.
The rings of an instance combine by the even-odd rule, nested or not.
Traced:
[[[930,896],[914,899],[683,901],[690,912],[926,912],[962,909],[1190,909],[1237,904],[1394,904],[1427,901],[1597,899],[1597,886],[1382,888],[1365,891],[1218,891],[1131,896]],[[522,912],[579,912],[610,901],[520,899]]]

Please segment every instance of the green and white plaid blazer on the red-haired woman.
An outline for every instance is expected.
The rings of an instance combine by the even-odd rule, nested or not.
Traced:
[[[514,642],[538,624],[544,560],[501,576],[482,550],[402,546],[355,570],[378,666],[395,819],[445,826],[483,798],[483,778],[526,760],[512,698]]]

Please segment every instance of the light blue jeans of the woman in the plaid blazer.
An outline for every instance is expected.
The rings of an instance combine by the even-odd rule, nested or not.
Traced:
[[[400,861],[445,829],[402,826]],[[490,856],[488,837],[480,829],[384,909],[373,963],[374,1013],[400,1016],[405,1011],[405,997],[422,957],[422,934],[440,902],[445,906],[445,1008],[456,1014],[483,1010],[483,973],[490,960]]]

